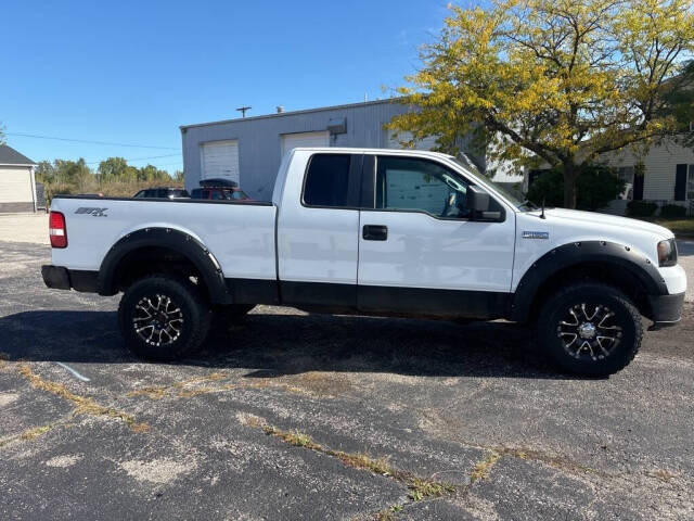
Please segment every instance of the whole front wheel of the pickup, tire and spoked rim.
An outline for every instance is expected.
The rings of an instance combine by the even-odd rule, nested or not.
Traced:
[[[567,372],[604,377],[624,369],[641,346],[643,326],[617,289],[577,283],[552,295],[538,318],[538,339]]]

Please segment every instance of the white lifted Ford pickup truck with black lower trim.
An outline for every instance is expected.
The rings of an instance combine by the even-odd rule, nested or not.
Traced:
[[[666,228],[539,209],[434,152],[295,149],[272,202],[56,196],[50,238],[46,284],[124,292],[120,331],[150,359],[197,348],[214,313],[273,304],[530,322],[560,368],[609,374],[686,289]]]

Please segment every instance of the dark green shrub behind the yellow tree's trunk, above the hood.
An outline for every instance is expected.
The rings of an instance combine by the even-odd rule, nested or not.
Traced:
[[[576,207],[596,211],[607,206],[609,201],[625,189],[625,181],[614,170],[601,165],[583,165],[577,180],[578,198]],[[564,176],[561,168],[540,174],[530,185],[527,199],[538,206],[562,206],[564,202]]]

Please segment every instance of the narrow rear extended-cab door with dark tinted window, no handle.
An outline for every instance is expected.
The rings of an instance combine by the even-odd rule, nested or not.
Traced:
[[[362,154],[293,154],[278,215],[282,302],[354,308]]]

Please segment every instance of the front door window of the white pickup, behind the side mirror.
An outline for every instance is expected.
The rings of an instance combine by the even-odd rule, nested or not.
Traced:
[[[410,157],[378,157],[376,165],[376,208],[470,217],[467,182],[445,167]]]

